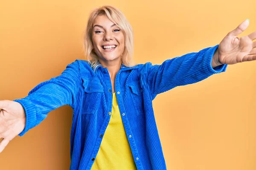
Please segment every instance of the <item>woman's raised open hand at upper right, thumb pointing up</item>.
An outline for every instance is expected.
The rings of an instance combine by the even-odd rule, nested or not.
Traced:
[[[256,31],[244,37],[237,37],[248,26],[249,20],[245,20],[220,42],[217,61],[219,65],[256,60],[256,42],[253,42],[256,39]]]

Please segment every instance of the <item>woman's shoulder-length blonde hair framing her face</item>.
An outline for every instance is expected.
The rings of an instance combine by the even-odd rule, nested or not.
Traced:
[[[100,15],[106,15],[109,20],[111,20],[114,24],[119,26],[120,29],[122,29],[122,31],[124,32],[125,49],[121,57],[121,64],[127,67],[133,67],[135,65],[132,59],[134,44],[133,44],[133,30],[130,23],[125,18],[125,15],[119,9],[113,6],[102,6],[94,9],[90,13],[90,16],[87,22],[87,28],[84,31],[83,47],[85,51],[85,56],[87,56],[87,60],[91,64],[91,68],[93,68],[93,71],[95,71],[96,68],[99,65],[101,65],[99,63],[99,59],[97,54],[95,53],[95,50],[93,50],[93,40],[92,40],[93,23],[96,20],[96,18]],[[89,59],[89,57],[91,57],[91,60]]]

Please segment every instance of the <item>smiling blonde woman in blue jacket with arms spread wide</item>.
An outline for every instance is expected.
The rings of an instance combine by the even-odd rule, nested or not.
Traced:
[[[47,117],[73,108],[70,170],[165,170],[152,100],[180,85],[226,71],[227,65],[256,59],[256,31],[237,37],[242,22],[219,45],[164,61],[134,65],[133,31],[117,8],[102,6],[89,17],[86,56],[63,73],[14,101],[0,101],[0,152]]]

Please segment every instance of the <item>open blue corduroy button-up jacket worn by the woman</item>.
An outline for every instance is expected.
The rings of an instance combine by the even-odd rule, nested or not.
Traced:
[[[138,170],[166,170],[152,100],[176,86],[226,71],[227,65],[211,66],[217,48],[167,59],[161,65],[121,66],[115,79],[116,98]],[[60,76],[41,82],[28,96],[14,101],[26,113],[26,126],[19,136],[43,121],[50,111],[70,105],[70,170],[91,169],[111,117],[112,86],[107,68],[99,66],[94,72],[87,61],[76,59]]]

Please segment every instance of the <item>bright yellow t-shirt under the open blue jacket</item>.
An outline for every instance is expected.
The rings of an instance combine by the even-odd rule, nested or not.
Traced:
[[[111,118],[91,170],[137,170],[113,93]]]

